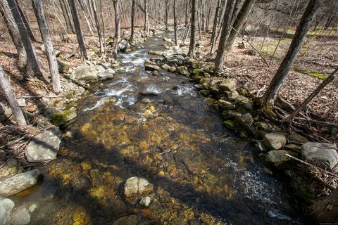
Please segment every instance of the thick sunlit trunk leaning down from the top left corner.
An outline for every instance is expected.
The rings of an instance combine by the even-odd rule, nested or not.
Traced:
[[[11,35],[13,44],[15,45],[16,51],[18,52],[18,68],[23,70],[27,65],[27,55],[26,51],[23,48],[23,43],[20,39],[20,32],[18,25],[16,25],[13,15],[11,13],[11,8],[8,4],[3,4],[6,0],[0,0],[0,14],[4,18],[5,25],[8,29],[9,34]]]

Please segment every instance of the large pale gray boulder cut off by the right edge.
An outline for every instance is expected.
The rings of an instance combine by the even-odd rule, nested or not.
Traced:
[[[307,142],[301,146],[301,157],[323,169],[334,168],[338,172],[338,153],[335,146],[330,143]],[[336,166],[337,165],[337,166]]]

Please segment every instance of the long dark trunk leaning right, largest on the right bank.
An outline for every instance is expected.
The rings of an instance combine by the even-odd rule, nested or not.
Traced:
[[[289,70],[292,68],[294,60],[296,60],[296,57],[301,50],[301,44],[303,43],[303,39],[306,36],[306,32],[308,32],[308,29],[311,26],[311,22],[315,17],[315,14],[320,8],[320,4],[320,0],[310,0],[310,2],[308,3],[306,11],[305,13],[303,13],[301,21],[296,28],[296,33],[294,34],[294,38],[292,39],[292,42],[289,46],[287,55],[282,60],[282,63],[280,63],[280,67],[278,68],[275,76],[270,82],[268,90],[265,91],[265,94],[261,98],[261,105],[263,108],[268,109],[274,105],[275,99],[280,92],[280,88],[284,84],[285,79],[287,79]]]

